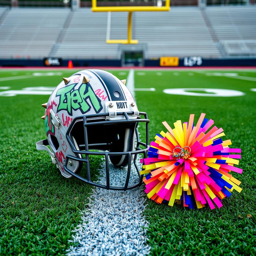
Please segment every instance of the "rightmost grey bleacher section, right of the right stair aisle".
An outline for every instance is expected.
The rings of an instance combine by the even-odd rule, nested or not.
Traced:
[[[227,55],[256,54],[256,6],[207,7],[206,14]]]

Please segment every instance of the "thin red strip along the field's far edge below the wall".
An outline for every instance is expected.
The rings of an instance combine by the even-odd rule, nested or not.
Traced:
[[[52,70],[52,69],[70,69],[67,67],[0,67],[1,69],[44,69],[44,70]],[[72,69],[137,69],[137,70],[193,70],[193,69],[206,69],[206,70],[226,70],[226,69],[255,69],[256,66],[216,66],[216,67],[73,67]]]

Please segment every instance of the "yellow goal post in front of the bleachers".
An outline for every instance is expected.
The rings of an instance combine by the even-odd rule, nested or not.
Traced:
[[[128,12],[127,40],[106,40],[108,44],[137,44],[138,40],[132,39],[132,14],[133,12],[168,12],[170,0],[165,1],[165,6],[97,6],[97,0],[92,0],[92,12]]]

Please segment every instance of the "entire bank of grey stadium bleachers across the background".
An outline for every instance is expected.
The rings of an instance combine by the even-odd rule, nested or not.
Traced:
[[[172,7],[170,12],[135,12],[133,39],[144,58],[160,56],[256,55],[256,6]],[[0,8],[0,58],[61,57],[120,59],[127,38],[127,13],[92,13],[90,8]]]

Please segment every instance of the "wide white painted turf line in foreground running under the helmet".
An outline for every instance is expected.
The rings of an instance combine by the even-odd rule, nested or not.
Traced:
[[[117,168],[109,161],[111,186],[123,186],[127,171]],[[132,167],[134,167],[132,165]],[[105,164],[101,170],[101,183],[104,184]],[[138,175],[131,169],[130,181]],[[130,182],[129,182],[130,186]],[[92,189],[89,209],[82,212],[82,220],[76,227],[68,256],[145,256],[150,247],[146,244],[146,220],[141,213],[146,205],[140,188],[127,191]]]

